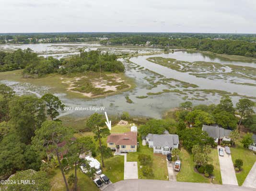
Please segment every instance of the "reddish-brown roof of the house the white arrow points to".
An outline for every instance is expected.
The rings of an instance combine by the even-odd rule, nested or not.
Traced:
[[[116,145],[137,145],[137,132],[111,133],[107,137],[107,143]]]

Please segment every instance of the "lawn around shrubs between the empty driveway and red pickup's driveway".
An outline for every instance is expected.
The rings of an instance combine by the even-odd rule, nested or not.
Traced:
[[[168,180],[168,171],[166,164],[166,156],[162,154],[154,154],[153,149],[148,146],[142,146],[142,140],[139,138],[140,146],[137,149],[137,152],[130,152],[127,154],[127,161],[138,161],[139,154],[147,154],[150,155],[153,159],[152,162],[152,170],[153,177],[143,176],[142,171],[140,169],[140,162],[138,161],[138,175],[139,179],[155,179],[155,180]]]

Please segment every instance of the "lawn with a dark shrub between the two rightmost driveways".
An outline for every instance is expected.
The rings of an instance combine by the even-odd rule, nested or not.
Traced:
[[[240,142],[237,142],[235,148],[231,148],[231,156],[233,163],[236,159],[242,159],[244,162],[243,170],[239,173],[236,173],[236,179],[238,185],[241,186],[244,183],[244,180],[256,162],[256,155],[249,149],[244,149]]]

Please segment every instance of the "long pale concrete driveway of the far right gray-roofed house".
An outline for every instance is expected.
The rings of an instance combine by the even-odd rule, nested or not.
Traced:
[[[231,155],[228,155],[224,151],[224,157],[221,157],[219,155],[219,148],[221,148],[221,146],[218,146],[217,149],[220,161],[222,184],[238,185]],[[224,150],[224,148],[222,149]]]

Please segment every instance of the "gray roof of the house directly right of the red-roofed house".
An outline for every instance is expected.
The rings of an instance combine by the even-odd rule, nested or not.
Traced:
[[[154,147],[174,147],[174,144],[179,144],[179,136],[153,134]]]

